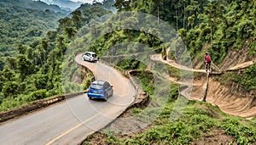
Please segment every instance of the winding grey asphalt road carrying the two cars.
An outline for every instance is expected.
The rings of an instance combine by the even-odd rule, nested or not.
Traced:
[[[133,103],[136,90],[118,70],[100,62],[84,62],[81,55],[75,61],[89,68],[96,79],[109,81],[113,97],[103,102],[89,100],[83,94],[5,122],[0,125],[1,145],[79,144]]]

